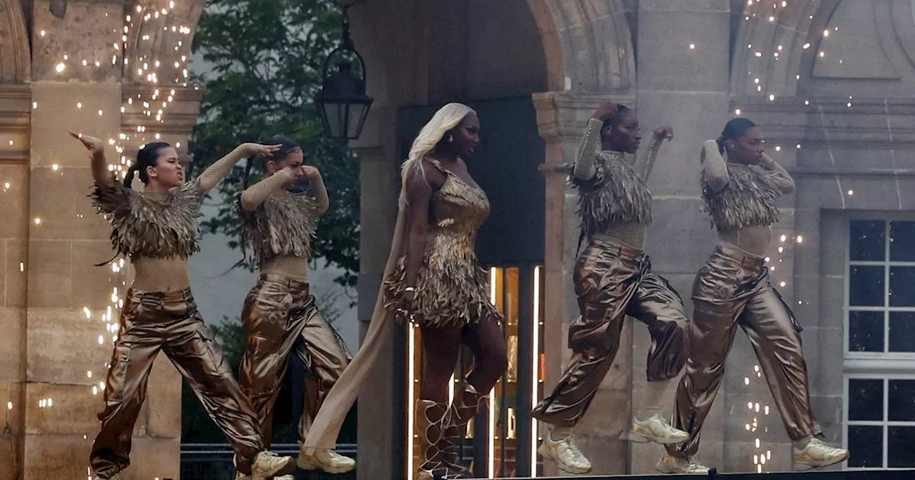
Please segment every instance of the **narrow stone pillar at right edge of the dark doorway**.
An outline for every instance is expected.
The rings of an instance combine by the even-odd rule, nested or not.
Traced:
[[[578,315],[572,272],[581,230],[576,215],[576,193],[566,187],[570,165],[575,162],[587,119],[597,106],[602,101],[631,104],[633,100],[619,94],[571,91],[553,91],[533,96],[538,128],[546,144],[546,162],[541,168],[546,177],[544,395],[552,391],[571,357],[572,352],[567,347],[568,325]],[[627,444],[619,440],[619,434],[628,427],[630,349],[630,328],[626,327],[614,366],[601,384],[585,421],[575,429],[576,440],[582,450],[591,453],[589,458],[594,465],[594,474],[597,475],[628,473],[626,465],[629,451]],[[546,434],[550,428],[550,425],[541,423],[541,434]],[[554,469],[554,464],[544,464],[545,475],[557,475]]]

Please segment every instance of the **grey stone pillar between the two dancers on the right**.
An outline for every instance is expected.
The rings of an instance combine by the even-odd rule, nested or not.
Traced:
[[[700,211],[698,154],[703,140],[715,138],[728,118],[729,11],[727,0],[639,2],[637,107],[642,135],[647,137],[664,123],[674,130],[674,140],[662,147],[649,180],[654,223],[646,248],[654,271],[673,283],[690,315],[695,272],[715,244],[714,232]],[[632,399],[638,401],[645,388],[645,355],[651,341],[645,328],[633,325]],[[738,355],[752,355],[745,342],[735,347],[733,357]],[[670,410],[673,386],[666,397],[670,400],[663,406]],[[713,466],[726,466],[723,452],[732,448],[723,443],[723,409],[727,399],[719,396],[702,434],[700,459]],[[662,450],[637,443],[631,448],[631,473],[653,472]]]

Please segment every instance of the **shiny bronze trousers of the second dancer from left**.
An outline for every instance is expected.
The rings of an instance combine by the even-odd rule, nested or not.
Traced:
[[[273,408],[293,351],[306,367],[305,413],[298,422],[304,441],[328,391],[350,363],[350,352],[318,312],[308,283],[275,273],[261,273],[242,309],[245,349],[239,371],[242,390],[251,399],[264,443],[273,436]]]

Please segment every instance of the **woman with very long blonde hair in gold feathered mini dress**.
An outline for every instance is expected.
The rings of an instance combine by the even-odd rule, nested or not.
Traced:
[[[485,404],[508,362],[501,315],[490,304],[487,277],[473,250],[490,209],[463,160],[479,144],[478,133],[476,112],[449,103],[416,137],[403,166],[400,213],[368,336],[318,411],[306,453],[333,448],[361,382],[386,347],[388,324],[397,316],[420,325],[425,353],[416,402],[422,461],[416,477],[467,477],[451,449],[453,441]],[[447,386],[462,343],[474,355],[474,369],[448,404]]]

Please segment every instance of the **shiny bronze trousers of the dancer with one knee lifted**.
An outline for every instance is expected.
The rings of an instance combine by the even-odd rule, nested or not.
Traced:
[[[623,320],[648,325],[649,381],[673,379],[686,362],[688,319],[683,300],[661,276],[651,273],[643,251],[608,238],[592,239],[576,261],[574,275],[581,313],[569,325],[574,352],[553,393],[537,405],[534,418],[561,427],[585,415],[619,349]]]

